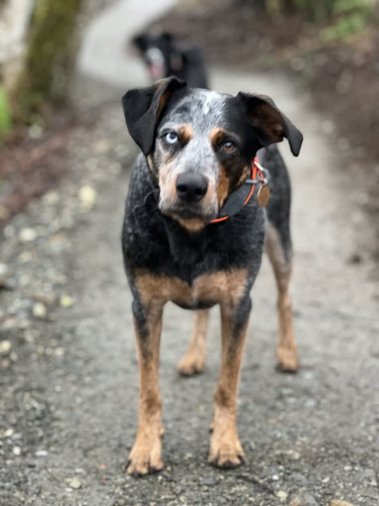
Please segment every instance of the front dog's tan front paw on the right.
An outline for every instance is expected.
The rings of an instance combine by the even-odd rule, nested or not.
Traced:
[[[236,468],[245,462],[245,453],[235,430],[213,430],[208,463],[217,468]]]

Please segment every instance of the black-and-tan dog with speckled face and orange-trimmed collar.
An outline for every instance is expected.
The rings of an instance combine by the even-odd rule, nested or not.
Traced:
[[[209,308],[221,307],[221,372],[208,462],[236,467],[245,458],[235,420],[238,377],[250,291],[265,245],[278,288],[277,366],[298,367],[289,295],[290,180],[275,143],[286,137],[298,156],[303,136],[267,96],[194,89],[175,77],[128,91],[122,105],[141,150],[122,227],[140,377],[139,425],[126,470],[145,475],[163,467],[158,362],[167,301],[195,311],[191,342],[179,362],[184,374],[203,370]],[[255,158],[261,148],[272,193],[266,207],[258,202],[265,186]]]

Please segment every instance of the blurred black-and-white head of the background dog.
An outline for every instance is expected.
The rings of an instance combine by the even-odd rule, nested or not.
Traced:
[[[132,38],[132,43],[143,57],[152,79],[166,77],[169,69],[181,66],[180,52],[175,48],[171,33],[143,32]]]

